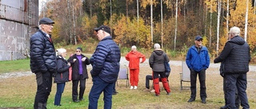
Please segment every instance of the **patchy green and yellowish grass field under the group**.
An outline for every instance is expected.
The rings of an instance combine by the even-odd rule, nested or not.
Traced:
[[[8,65],[6,65],[8,64]],[[29,60],[14,60],[14,61],[0,61],[0,65],[4,68],[9,68],[11,72],[27,71]],[[23,66],[17,68],[19,65]],[[13,69],[15,68],[15,69]],[[199,88],[197,99],[193,103],[187,103],[190,98],[190,90],[180,90],[180,75],[182,72],[181,66],[172,66],[170,74],[170,88],[171,95],[166,95],[166,92],[161,86],[161,95],[154,96],[154,93],[145,91],[145,77],[151,74],[149,66],[142,66],[139,74],[139,84],[137,90],[130,90],[126,88],[126,80],[118,80],[117,87],[118,95],[113,95],[113,109],[217,109],[224,105],[223,91],[222,91],[222,77],[219,76],[218,68],[209,68],[206,71],[206,88],[207,99],[206,104],[201,103],[199,98]],[[2,70],[2,68],[1,68]],[[88,69],[90,71],[90,69]],[[5,71],[1,71],[5,72]],[[248,72],[248,86],[247,95],[249,98],[250,108],[256,108],[256,73]],[[152,84],[152,81],[150,81]],[[85,101],[73,103],[71,99],[71,82],[66,83],[65,91],[62,95],[61,107],[54,106],[54,95],[56,92],[56,84],[53,84],[52,91],[48,99],[48,109],[85,109],[88,107],[88,95],[92,85],[91,78],[86,81]],[[187,83],[186,85],[189,85]],[[199,86],[199,84],[198,84]],[[11,77],[0,79],[0,108],[24,108],[32,109],[34,103],[34,95],[36,92],[36,81],[34,74],[30,76]],[[98,100],[98,108],[103,108],[103,95]]]

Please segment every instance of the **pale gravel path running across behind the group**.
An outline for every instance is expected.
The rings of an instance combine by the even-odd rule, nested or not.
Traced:
[[[128,66],[129,62],[125,59],[125,57],[121,57],[120,60],[121,66]],[[179,60],[170,60],[170,65],[171,66],[182,66],[182,61]],[[146,61],[140,66],[149,66],[149,60],[146,59]],[[213,64],[210,63],[210,68],[219,68],[220,64]],[[88,65],[87,68],[91,68],[91,65]],[[256,72],[256,66],[250,65],[250,71]],[[11,77],[19,77],[19,76],[30,76],[33,75],[34,73],[32,72],[7,72],[7,73],[2,73],[0,74],[0,79],[6,79],[6,78],[11,78]]]

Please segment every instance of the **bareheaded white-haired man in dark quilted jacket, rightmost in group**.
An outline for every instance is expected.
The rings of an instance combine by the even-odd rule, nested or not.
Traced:
[[[214,63],[222,62],[222,70],[226,85],[226,105],[221,107],[237,108],[235,106],[235,91],[238,89],[238,97],[243,109],[249,109],[246,94],[247,77],[250,62],[250,47],[242,37],[239,37],[240,29],[236,26],[230,28],[230,41],[226,42],[222,53],[214,59]]]

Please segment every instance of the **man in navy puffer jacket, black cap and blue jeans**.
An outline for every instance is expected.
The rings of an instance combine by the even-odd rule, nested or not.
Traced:
[[[110,27],[101,25],[94,29],[100,41],[90,58],[93,86],[89,94],[89,109],[98,108],[98,98],[104,93],[104,109],[112,107],[112,92],[114,83],[118,79],[121,53],[118,45],[110,36]]]

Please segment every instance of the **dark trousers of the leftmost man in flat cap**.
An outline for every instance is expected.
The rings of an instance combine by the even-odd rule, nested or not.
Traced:
[[[37,80],[37,93],[34,99],[34,109],[46,109],[47,99],[52,86],[52,73],[35,72]]]

